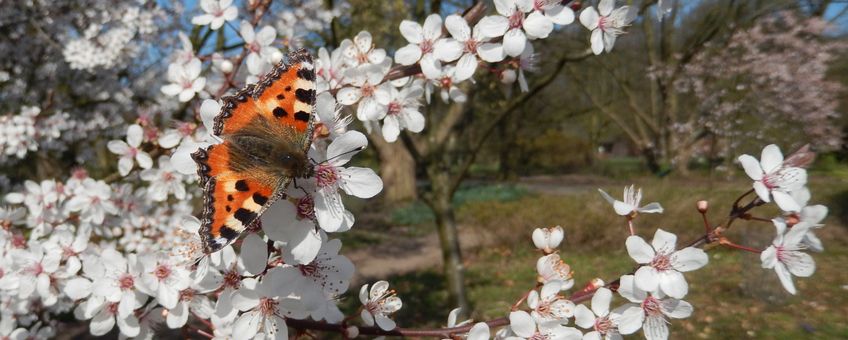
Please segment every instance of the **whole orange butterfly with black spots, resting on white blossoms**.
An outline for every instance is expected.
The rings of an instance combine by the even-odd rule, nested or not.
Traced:
[[[305,50],[288,54],[262,78],[223,97],[212,133],[223,140],[193,153],[203,187],[200,239],[206,254],[258,228],[259,216],[310,177],[315,69]]]

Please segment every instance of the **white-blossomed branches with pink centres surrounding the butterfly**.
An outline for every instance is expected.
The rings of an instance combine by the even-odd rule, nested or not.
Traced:
[[[446,210],[445,215],[437,216],[452,219],[452,210],[444,204],[449,205],[470,161],[462,164],[458,175],[451,173],[446,168],[449,159],[438,158],[449,149],[448,142],[425,144],[423,138],[413,136],[423,133],[425,138],[451,138],[458,132],[440,136],[432,131],[442,130],[428,132],[427,124],[452,125],[463,112],[453,112],[451,107],[443,115],[425,115],[420,111],[422,103],[467,101],[468,84],[485,65],[496,68],[504,81],[518,82],[519,88],[528,91],[513,104],[521,105],[534,93],[532,80],[524,74],[533,58],[533,43],[557,27],[579,17],[589,30],[590,46],[581,58],[612,51],[616,37],[634,13],[612,0],[601,0],[597,6],[498,0],[493,12],[476,3],[462,15],[433,14],[423,24],[404,21],[398,29],[408,43],[393,56],[377,48],[365,31],[338,46],[313,51],[313,61],[303,64],[314,71],[316,93],[310,121],[313,133],[308,136],[309,175],[297,185],[282,188],[286,190],[283,199],[265,211],[260,222],[246,226],[239,240],[204,253],[198,234],[201,221],[193,214],[202,195],[197,183],[203,179],[198,178],[198,166],[190,155],[222,142],[215,116],[239,97],[228,95],[246,96],[246,92],[236,91],[245,84],[266,81],[275,64],[289,62],[282,47],[293,49],[296,37],[323,29],[342,15],[344,8],[328,10],[321,1],[298,6],[246,1],[243,5],[237,7],[228,0],[200,1],[191,20],[195,26],[189,34],[175,35],[176,47],[163,68],[167,71],[161,72],[165,81],[154,91],[143,90],[142,85],[148,84],[144,79],[129,84],[119,77],[98,83],[112,86],[107,87],[108,93],[80,99],[115,101],[117,108],[127,109],[121,106],[123,97],[114,94],[127,86],[137,86],[153,98],[118,124],[114,123],[120,116],[112,110],[121,111],[102,108],[111,118],[103,125],[117,125],[116,135],[103,146],[107,154],[81,153],[90,163],[80,162],[83,167],[54,179],[10,183],[11,189],[3,196],[9,206],[0,208],[0,335],[49,338],[56,335],[63,320],[72,317],[86,322],[92,335],[117,328],[123,337],[145,339],[154,338],[162,325],[182,329],[187,336],[218,339],[284,339],[290,334],[317,332],[334,332],[344,338],[577,339],[618,338],[640,329],[649,339],[663,339],[668,337],[670,319],[693,313],[693,306],[682,300],[689,293],[685,273],[708,264],[701,249],[704,245],[759,253],[762,266],[774,269],[791,293],[796,293],[793,276],[807,277],[814,272],[813,259],[805,250],[822,249],[813,230],[821,227],[827,209],[807,205],[810,193],[804,168],[813,154],[801,149],[784,159],[777,146],[769,145],[759,160],[747,155],[739,158],[754,182],[752,189],[730,205],[725,221],[710,223],[708,203],[698,202],[704,231],[697,232],[690,242],[678,243],[676,235],[657,229],[649,244],[640,235],[650,230],[641,229],[636,221],[639,213],[661,213],[661,205],[640,206],[641,190],[632,186],[625,189],[623,201],[602,192],[602,198],[613,205],[610,212],[623,217],[626,228],[621,230],[629,235],[623,246],[636,263],[633,272],[606,281],[592,279],[573,289],[574,273],[557,250],[564,230],[537,229],[527,236],[541,253],[535,263],[538,280],[528,283],[531,288],[516,297],[501,318],[458,321],[462,312],[453,310],[447,313],[445,328],[401,327],[391,317],[403,307],[403,292],[390,289],[386,281],[360,288],[362,305],[356,312],[345,315],[339,309],[339,298],[351,294],[355,271],[341,253],[341,241],[335,238],[336,233],[355,225],[354,215],[343,205],[342,193],[368,199],[383,189],[373,170],[348,164],[356,152],[368,146],[365,134],[357,131],[354,127],[358,125],[352,121],[356,119],[364,129],[375,131],[372,135],[388,142],[402,138],[411,150],[418,150],[416,157],[434,158],[426,163],[427,172],[438,189],[426,199],[434,209]],[[61,47],[61,67],[76,70],[76,75],[107,74],[107,78],[119,68],[130,72],[127,65],[133,58],[147,60],[140,57],[133,41],[156,31],[157,25],[151,24],[154,18],[165,20],[164,13],[183,10],[159,7],[156,2],[92,8],[97,11],[63,16],[71,26],[88,26],[68,33],[51,47]],[[33,10],[49,16],[61,8]],[[27,24],[10,25],[22,34]],[[569,58],[561,59],[559,67]],[[26,73],[12,72],[4,81]],[[303,78],[312,78],[311,73]],[[542,84],[550,81],[539,80]],[[249,89],[252,87],[246,91]],[[63,89],[66,92],[60,97],[74,99],[76,90]],[[62,110],[80,110],[90,103],[54,104],[49,101],[53,95],[37,94],[42,93],[4,95],[47,100],[34,99],[43,107],[21,107],[19,114],[0,120],[4,163],[24,162],[37,150],[55,151],[50,146],[72,133],[69,131],[86,139],[86,132],[103,127],[97,120],[63,125],[76,120]],[[42,111],[50,115],[39,118]],[[434,149],[423,152],[421,145]],[[108,160],[108,167],[115,172],[89,172],[90,168],[97,170],[91,164],[97,159]],[[20,177],[14,174],[14,178]],[[255,196],[253,199],[256,201]],[[783,211],[780,215],[764,219],[751,214],[771,202]],[[742,220],[773,224],[776,238],[772,245],[760,250],[729,239],[725,232]],[[445,221],[442,237],[456,248],[453,223]],[[446,267],[459,273],[447,276],[457,291],[462,286],[461,262],[458,252],[454,254],[456,257],[447,258]],[[566,293],[569,290],[573,292]],[[584,304],[590,300],[590,305]],[[461,293],[456,302],[464,304]],[[570,325],[572,321],[577,327]]]

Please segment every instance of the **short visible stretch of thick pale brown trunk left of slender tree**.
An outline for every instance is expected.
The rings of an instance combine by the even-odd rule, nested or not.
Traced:
[[[382,137],[371,138],[380,158],[383,198],[388,204],[415,200],[415,161],[400,141],[388,143]]]

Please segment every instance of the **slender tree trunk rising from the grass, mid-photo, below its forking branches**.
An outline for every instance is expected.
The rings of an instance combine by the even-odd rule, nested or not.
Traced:
[[[451,203],[453,192],[448,168],[443,164],[432,164],[427,167],[431,188],[426,194],[425,201],[436,216],[436,227],[442,247],[442,269],[447,281],[448,295],[453,303],[452,307],[461,308],[461,313],[468,316],[471,308],[465,291],[465,266],[462,263],[459,232]]]

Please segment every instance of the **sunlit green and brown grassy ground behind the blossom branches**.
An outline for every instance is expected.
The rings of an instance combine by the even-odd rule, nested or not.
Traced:
[[[774,272],[760,268],[756,254],[710,249],[710,264],[687,275],[690,292],[686,300],[693,303],[695,313],[689,319],[672,323],[673,338],[848,337],[848,276],[844,272],[848,263],[848,181],[841,176],[815,173],[811,178],[812,201],[828,205],[831,213],[827,227],[818,232],[826,251],[814,254],[817,270],[812,278],[796,279],[798,295],[785,293]],[[556,184],[556,179],[550,180],[551,185],[562,185]],[[601,187],[613,196],[621,195],[626,184],[606,183]],[[750,185],[746,180],[654,178],[641,178],[634,183],[645,188],[643,203],[658,201],[666,209],[661,215],[640,216],[637,232],[650,239],[653,230],[660,227],[678,234],[680,243],[697,237],[703,230],[700,215],[694,209],[697,200],[710,201],[709,217],[717,223],[726,216],[735,197]],[[577,287],[595,277],[617,278],[633,268],[623,249],[626,226],[594,190],[560,195],[523,192],[507,195],[508,199],[492,196],[495,198],[484,201],[466,198],[458,210],[462,228],[488,239],[485,246],[465,254],[467,286],[476,319],[503,316],[516,298],[533,285],[539,256],[530,241],[535,227],[559,224],[565,228],[561,254],[574,270]],[[757,216],[763,217],[775,213],[774,209],[755,210]],[[432,230],[426,218],[419,222],[413,227],[382,228],[390,233]],[[773,235],[774,228],[761,222],[737,223],[728,233],[732,240],[758,247],[768,244]],[[398,315],[400,325],[445,324],[451,307],[445,304],[438,268],[391,277],[389,281],[404,300]],[[614,300],[614,304],[622,303],[620,298]],[[346,304],[348,309],[355,306],[354,301]]]

